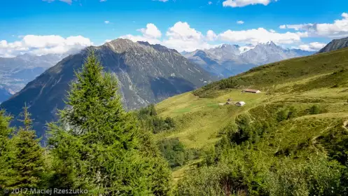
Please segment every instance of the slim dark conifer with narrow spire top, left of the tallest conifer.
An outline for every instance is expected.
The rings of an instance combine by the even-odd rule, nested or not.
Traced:
[[[24,123],[24,127],[20,127],[10,141],[12,156],[9,163],[13,174],[11,182],[7,182],[7,187],[40,188],[45,172],[43,148],[32,130],[32,120],[27,106],[24,107],[22,116],[24,119],[21,121]]]

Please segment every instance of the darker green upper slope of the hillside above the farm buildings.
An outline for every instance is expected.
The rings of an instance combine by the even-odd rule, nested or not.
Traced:
[[[292,84],[310,79],[315,76],[335,73],[337,71],[341,71],[342,69],[347,69],[347,51],[348,49],[344,48],[334,52],[288,59],[281,62],[257,66],[249,71],[246,71],[246,73],[241,73],[238,76],[220,80],[202,87],[200,90],[196,90],[194,94],[199,97],[218,97],[221,92],[216,92],[216,90],[242,87],[257,87],[258,89],[264,91],[274,90],[274,88],[277,88],[277,85],[284,85],[284,83]],[[342,74],[338,75],[339,76],[332,77],[330,83],[327,83],[326,85],[311,85],[312,87],[330,87],[330,85],[336,84],[335,78],[338,78],[336,82],[340,80],[339,77]],[[319,80],[313,82],[320,83],[323,80],[325,80],[325,78],[319,78]],[[340,85],[344,84],[342,83]],[[292,87],[292,85],[290,86]],[[281,89],[281,91],[287,89],[288,85],[286,85],[286,89]],[[277,88],[277,90],[279,89]]]

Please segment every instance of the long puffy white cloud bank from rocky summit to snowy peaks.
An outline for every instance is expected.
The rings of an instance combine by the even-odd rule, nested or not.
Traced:
[[[152,23],[146,25],[146,28],[138,29],[141,35],[127,34],[120,38],[128,38],[132,41],[148,41],[148,43],[165,45],[168,48],[174,48],[181,51],[194,51],[197,49],[209,49],[218,46],[217,42],[231,43],[265,43],[274,41],[277,44],[293,44],[300,43],[301,38],[307,37],[307,32],[286,32],[279,33],[273,29],[267,30],[264,28],[247,29],[243,31],[223,31],[216,34],[213,30],[207,31],[207,34],[202,34],[197,31],[187,22],[176,22],[174,26],[167,29],[163,38],[160,30]]]

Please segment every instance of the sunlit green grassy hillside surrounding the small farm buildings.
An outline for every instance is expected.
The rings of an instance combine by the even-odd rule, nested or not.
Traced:
[[[347,76],[348,48],[258,66],[155,106],[159,116],[176,123],[174,130],[155,136],[158,141],[177,138],[185,148],[205,152],[200,159],[174,169],[175,179],[207,160],[206,152],[226,138],[276,160],[305,161],[309,155],[325,153],[329,160],[344,165]],[[241,92],[245,87],[262,92]],[[246,105],[223,105],[228,99]]]

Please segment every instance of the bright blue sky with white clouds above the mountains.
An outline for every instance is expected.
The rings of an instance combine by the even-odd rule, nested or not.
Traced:
[[[164,1],[1,2],[0,56],[62,52],[119,37],[176,50],[268,40],[287,48],[317,50],[333,38],[348,36],[347,0]]]

